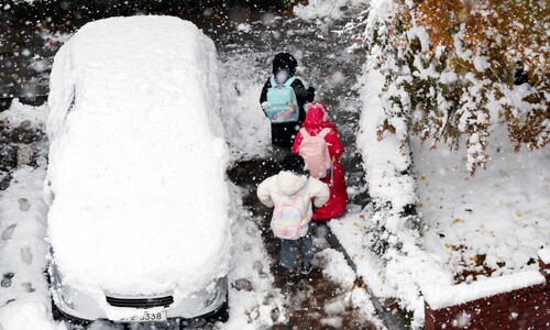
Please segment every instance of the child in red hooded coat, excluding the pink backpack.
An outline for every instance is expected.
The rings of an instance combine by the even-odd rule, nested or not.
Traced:
[[[338,161],[343,153],[343,145],[338,135],[337,128],[329,121],[327,106],[322,102],[311,102],[304,106],[306,109],[306,120],[301,124],[310,135],[317,135],[319,132],[329,128],[330,132],[324,136],[330,157],[332,158],[332,184],[331,177],[327,176],[321,182],[329,185],[330,199],[324,206],[318,208],[314,213],[312,220],[330,220],[340,217],[345,211],[348,205],[348,191],[345,190],[345,176],[342,164]],[[299,154],[300,143],[304,136],[300,132],[296,135],[293,145],[293,153]]]

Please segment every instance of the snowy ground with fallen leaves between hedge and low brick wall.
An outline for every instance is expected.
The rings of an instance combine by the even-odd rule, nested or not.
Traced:
[[[457,282],[538,270],[550,245],[550,151],[515,154],[506,133],[497,125],[473,177],[460,154],[414,141],[426,250]]]

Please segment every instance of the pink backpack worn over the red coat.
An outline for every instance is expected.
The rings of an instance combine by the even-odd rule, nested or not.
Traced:
[[[300,129],[304,140],[300,143],[299,154],[306,162],[309,174],[315,178],[323,178],[330,174],[332,161],[324,136],[330,132],[329,128],[322,129],[319,134],[310,135],[306,129]]]

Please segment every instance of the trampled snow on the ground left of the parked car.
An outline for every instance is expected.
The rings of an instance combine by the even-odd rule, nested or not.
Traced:
[[[13,100],[0,120],[9,127],[41,129],[47,107]],[[19,145],[20,147],[23,144]],[[20,150],[21,151],[21,150]],[[52,320],[50,289],[44,271],[48,245],[43,200],[45,162],[41,168],[22,166],[12,173],[10,187],[0,191],[0,328],[3,330],[65,329]]]

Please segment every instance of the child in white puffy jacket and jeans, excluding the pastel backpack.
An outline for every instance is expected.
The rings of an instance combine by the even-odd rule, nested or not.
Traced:
[[[302,215],[306,215],[307,221],[311,220],[314,215],[311,204],[316,207],[323,206],[330,198],[329,187],[320,180],[309,177],[305,170],[304,158],[299,155],[287,155],[280,163],[280,172],[271,176],[257,186],[257,197],[262,204],[267,207],[274,207],[279,200],[287,196],[293,196],[307,184],[307,189],[302,194]],[[280,242],[280,264],[287,268],[287,284],[295,284],[298,280],[296,274],[296,256],[298,245],[301,245],[301,274],[308,275],[311,272],[311,261],[314,239],[311,235],[311,226],[307,233],[298,240],[282,240]]]

